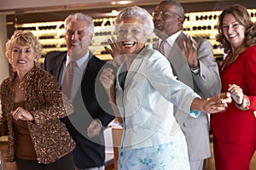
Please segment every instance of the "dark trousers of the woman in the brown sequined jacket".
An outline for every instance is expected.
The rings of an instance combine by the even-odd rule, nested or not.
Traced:
[[[16,170],[74,170],[73,155],[69,153],[50,164],[17,159]]]

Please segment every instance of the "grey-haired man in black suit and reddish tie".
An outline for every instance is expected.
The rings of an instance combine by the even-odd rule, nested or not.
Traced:
[[[113,120],[113,116],[107,113],[110,111],[107,94],[104,95],[101,83],[97,83],[106,63],[89,50],[94,31],[90,16],[70,14],[64,25],[67,51],[46,54],[44,68],[55,76],[63,90],[67,85],[64,81],[66,72],[69,71],[71,63],[75,62],[72,86],[69,89],[74,112],[63,122],[76,142],[76,149],[73,150],[76,167],[103,170],[105,146],[102,127],[107,127]]]

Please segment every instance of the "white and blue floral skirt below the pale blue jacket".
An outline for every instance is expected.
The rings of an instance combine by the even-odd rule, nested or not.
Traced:
[[[119,151],[119,170],[189,170],[187,144],[170,142]]]

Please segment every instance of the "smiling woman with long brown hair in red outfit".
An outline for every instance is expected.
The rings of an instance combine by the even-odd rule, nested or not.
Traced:
[[[256,149],[256,24],[241,5],[224,8],[218,42],[228,53],[220,66],[222,92],[232,103],[212,116],[216,169],[247,170]]]

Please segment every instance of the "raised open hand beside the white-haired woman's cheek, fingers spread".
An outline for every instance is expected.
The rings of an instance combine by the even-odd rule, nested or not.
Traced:
[[[108,44],[110,45],[110,48],[104,47],[106,51],[112,56],[113,62],[117,67],[121,65],[124,61],[124,56],[121,51],[121,48],[119,47],[119,43],[117,42],[115,37],[112,37],[112,39],[108,39]]]

